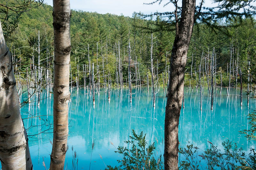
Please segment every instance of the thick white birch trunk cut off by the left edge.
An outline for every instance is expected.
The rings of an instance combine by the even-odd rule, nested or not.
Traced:
[[[20,116],[12,56],[0,22],[0,160],[3,170],[31,170],[28,137]]]

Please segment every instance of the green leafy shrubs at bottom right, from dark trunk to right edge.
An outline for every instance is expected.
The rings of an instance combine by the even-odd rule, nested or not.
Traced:
[[[250,129],[245,129],[241,133],[245,134],[248,140],[256,140],[256,112],[248,115]],[[210,142],[209,142],[210,143]],[[199,148],[193,144],[188,144],[186,148],[180,148],[179,152],[184,157],[180,162],[180,169],[256,169],[256,152],[250,149],[249,155],[245,155],[242,148],[238,148],[236,143],[222,142],[224,151],[221,152],[212,143],[210,149],[198,155]]]

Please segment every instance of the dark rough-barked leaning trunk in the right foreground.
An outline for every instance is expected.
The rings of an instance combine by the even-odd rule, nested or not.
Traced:
[[[172,48],[168,97],[164,120],[165,170],[178,170],[178,126],[184,91],[184,71],[195,19],[195,4],[195,0],[183,0],[179,25],[178,17],[176,17],[176,36]]]

